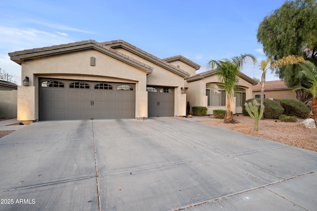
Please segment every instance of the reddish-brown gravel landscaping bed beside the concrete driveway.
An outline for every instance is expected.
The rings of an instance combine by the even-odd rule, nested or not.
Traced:
[[[209,117],[213,119],[199,122],[317,152],[317,129],[300,126],[304,119],[298,119],[297,122],[259,120],[259,129],[254,131],[254,119],[250,116],[234,115],[235,124],[225,124],[223,119],[214,119],[212,115]]]

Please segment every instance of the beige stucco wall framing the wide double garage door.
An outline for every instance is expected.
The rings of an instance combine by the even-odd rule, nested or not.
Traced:
[[[95,66],[90,65],[91,56],[96,58]],[[18,88],[18,120],[34,121],[39,118],[38,79],[40,77],[135,83],[135,116],[136,118],[143,118],[148,115],[147,73],[95,50],[24,61],[22,63],[22,79],[25,76],[29,77],[30,86]]]

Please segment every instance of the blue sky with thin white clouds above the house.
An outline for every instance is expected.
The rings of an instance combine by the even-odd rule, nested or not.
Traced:
[[[10,52],[84,40],[124,40],[159,58],[210,59],[251,53],[242,72],[261,78],[260,22],[284,0],[14,0],[0,2],[0,68],[21,84]],[[269,71],[266,81],[278,80]]]

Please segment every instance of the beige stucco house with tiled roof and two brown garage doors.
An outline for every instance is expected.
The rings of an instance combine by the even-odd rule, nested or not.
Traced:
[[[214,71],[181,56],[160,59],[125,41],[94,40],[8,53],[22,67],[17,119],[144,119],[185,116],[191,106],[224,108]],[[25,84],[24,84],[25,82]],[[241,74],[234,111],[255,82]],[[226,99],[226,98],[225,98]],[[220,103],[219,103],[220,102]]]

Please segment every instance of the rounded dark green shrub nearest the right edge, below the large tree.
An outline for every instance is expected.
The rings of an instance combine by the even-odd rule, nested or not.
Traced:
[[[304,103],[294,99],[280,100],[280,105],[284,108],[283,114],[287,116],[296,116],[301,119],[308,118],[311,109]]]

